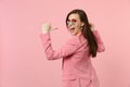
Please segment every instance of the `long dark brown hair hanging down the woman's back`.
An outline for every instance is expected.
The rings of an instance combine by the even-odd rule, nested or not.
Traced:
[[[92,55],[92,58],[96,57],[98,42],[96,42],[95,36],[93,35],[93,33],[91,30],[91,24],[89,24],[86,12],[83,10],[79,10],[79,9],[70,11],[66,17],[66,26],[67,26],[67,21],[68,21],[68,17],[70,14],[78,14],[80,21],[82,23],[84,23],[84,25],[82,26],[82,34],[89,45],[89,54]]]

